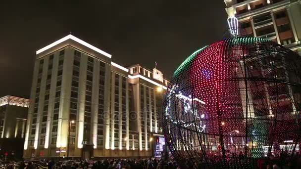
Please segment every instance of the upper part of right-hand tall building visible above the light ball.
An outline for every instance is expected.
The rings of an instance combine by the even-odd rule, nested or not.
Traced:
[[[301,55],[301,0],[224,0],[242,34],[282,44]]]

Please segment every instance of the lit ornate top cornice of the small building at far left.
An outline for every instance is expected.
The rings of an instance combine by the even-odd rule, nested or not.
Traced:
[[[0,106],[4,106],[7,104],[21,107],[29,107],[29,99],[10,95],[0,97]]]

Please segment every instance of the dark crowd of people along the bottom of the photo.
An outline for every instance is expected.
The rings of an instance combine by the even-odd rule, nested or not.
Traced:
[[[216,159],[216,158],[215,158]],[[226,161],[205,161],[204,159],[183,159],[180,162],[185,169],[301,169],[301,158],[294,161],[285,159],[243,160],[233,158]],[[193,163],[192,163],[193,162]],[[42,162],[43,163],[43,162]],[[253,166],[253,167],[251,167]],[[250,168],[251,167],[251,168]],[[7,166],[7,169],[180,169],[173,159],[101,159],[91,161],[44,161],[44,165],[36,162],[19,162]],[[183,168],[183,169],[184,169]]]

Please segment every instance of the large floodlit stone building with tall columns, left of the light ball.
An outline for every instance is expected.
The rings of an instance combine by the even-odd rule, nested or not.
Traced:
[[[24,158],[151,156],[169,82],[68,35],[36,52]]]

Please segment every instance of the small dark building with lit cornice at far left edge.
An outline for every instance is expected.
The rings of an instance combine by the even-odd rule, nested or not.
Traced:
[[[0,97],[0,155],[20,159],[23,154],[29,99]]]

